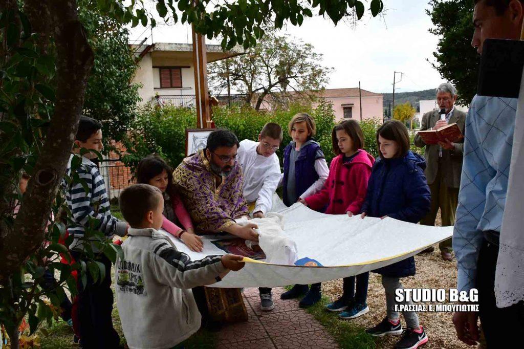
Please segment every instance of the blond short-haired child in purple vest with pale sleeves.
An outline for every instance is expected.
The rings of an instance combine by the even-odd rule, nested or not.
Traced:
[[[308,113],[298,113],[289,122],[289,135],[292,140],[284,149],[283,202],[287,206],[303,200],[320,191],[328,178],[329,169],[324,153],[313,136],[316,133],[315,121]],[[300,301],[300,306],[308,306],[320,300],[320,284],[295,285],[282,293],[281,299],[298,298],[308,293]]]

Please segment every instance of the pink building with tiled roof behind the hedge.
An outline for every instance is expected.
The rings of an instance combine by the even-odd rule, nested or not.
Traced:
[[[364,119],[377,118],[382,120],[383,96],[379,93],[361,90],[362,94],[362,115],[361,102],[358,94],[358,88],[347,89],[326,89],[320,92],[320,97],[333,104],[335,112],[335,121],[352,118],[357,121]]]

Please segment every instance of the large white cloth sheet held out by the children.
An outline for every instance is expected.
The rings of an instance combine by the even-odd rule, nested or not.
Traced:
[[[413,256],[453,234],[452,226],[431,227],[389,217],[381,220],[328,215],[300,203],[286,208],[276,196],[273,202],[271,211],[283,216],[283,236],[296,243],[297,257],[315,259],[323,267],[246,263],[242,270],[230,272],[212,287],[277,287],[358,275]],[[260,233],[264,235],[263,228]],[[212,244],[213,240],[225,238],[224,235],[203,236],[202,253],[191,252],[179,239],[170,238],[192,259],[225,254]]]

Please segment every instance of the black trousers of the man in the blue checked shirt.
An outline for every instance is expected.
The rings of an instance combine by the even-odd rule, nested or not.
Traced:
[[[524,302],[497,308],[495,302],[495,269],[498,246],[484,239],[478,255],[476,286],[478,310],[488,348],[514,347],[515,336],[524,332]],[[506,346],[508,341],[512,345]]]

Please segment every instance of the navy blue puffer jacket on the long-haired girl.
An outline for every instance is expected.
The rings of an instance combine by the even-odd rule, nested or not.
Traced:
[[[424,176],[425,160],[408,151],[403,158],[377,158],[367,186],[362,212],[417,223],[431,207],[431,192]],[[415,275],[413,257],[374,270],[389,277]]]

